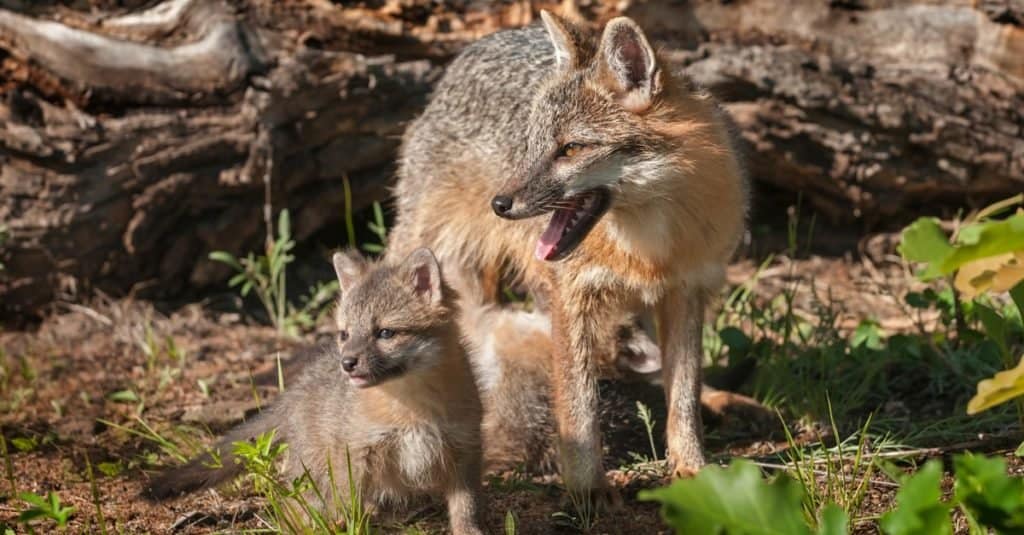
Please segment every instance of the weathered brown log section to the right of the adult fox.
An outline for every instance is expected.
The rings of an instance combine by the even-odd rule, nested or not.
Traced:
[[[703,33],[667,53],[726,102],[758,181],[864,228],[1024,190],[1024,29],[963,2],[784,4],[632,13]]]

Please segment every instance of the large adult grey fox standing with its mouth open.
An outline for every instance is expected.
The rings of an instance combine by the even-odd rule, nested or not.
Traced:
[[[694,474],[703,313],[748,192],[716,104],[666,70],[633,20],[596,35],[542,18],[467,47],[410,125],[389,254],[427,244],[452,277],[510,269],[546,294],[562,477],[614,500],[596,387],[613,324],[636,313],[658,326],[668,456]]]

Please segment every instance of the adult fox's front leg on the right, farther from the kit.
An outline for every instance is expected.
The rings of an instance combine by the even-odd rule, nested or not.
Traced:
[[[669,464],[678,478],[694,476],[703,465],[700,421],[700,368],[703,361],[703,290],[670,290],[657,306],[662,368],[669,408]]]

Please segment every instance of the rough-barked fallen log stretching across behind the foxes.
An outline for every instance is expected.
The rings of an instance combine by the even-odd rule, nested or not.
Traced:
[[[1024,190],[1018,0],[91,3],[0,0],[0,317],[219,283],[206,253],[259,247],[267,197],[300,240],[340,224],[444,61],[539,7],[625,9],[725,100],[763,190],[834,222]]]

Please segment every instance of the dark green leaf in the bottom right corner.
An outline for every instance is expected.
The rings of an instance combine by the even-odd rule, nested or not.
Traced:
[[[1000,534],[1024,534],[1024,480],[1007,475],[1001,457],[964,454],[953,458],[956,499],[982,526]]]

